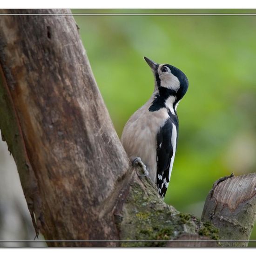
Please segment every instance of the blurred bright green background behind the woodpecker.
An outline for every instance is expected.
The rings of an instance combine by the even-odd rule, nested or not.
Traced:
[[[189,79],[166,203],[201,216],[218,178],[256,171],[256,16],[74,18],[119,136],[153,92],[143,56]]]

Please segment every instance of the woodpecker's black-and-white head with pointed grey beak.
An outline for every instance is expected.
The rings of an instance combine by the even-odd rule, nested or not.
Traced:
[[[157,64],[144,57],[155,75],[155,91],[157,93],[172,95],[175,101],[182,99],[189,87],[186,75],[177,67],[169,64]]]

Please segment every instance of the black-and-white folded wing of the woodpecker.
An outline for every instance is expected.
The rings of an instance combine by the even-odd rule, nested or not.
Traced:
[[[165,125],[160,128],[156,140],[156,185],[158,193],[164,197],[168,188],[170,173],[174,161],[176,141],[177,141],[177,126],[173,125],[171,118],[168,118]]]

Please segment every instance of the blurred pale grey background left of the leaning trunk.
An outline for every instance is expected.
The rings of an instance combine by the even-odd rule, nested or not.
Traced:
[[[34,243],[34,237],[15,162],[7,150],[7,143],[0,140],[0,247],[46,246],[44,242]],[[3,240],[28,242],[1,242]]]

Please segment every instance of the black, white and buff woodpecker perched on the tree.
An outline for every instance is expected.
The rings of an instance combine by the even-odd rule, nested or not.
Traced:
[[[148,175],[164,199],[177,148],[177,106],[189,81],[177,67],[157,64],[147,57],[144,60],[154,74],[155,88],[149,100],[128,119],[121,143],[133,166],[143,168],[141,176]]]

